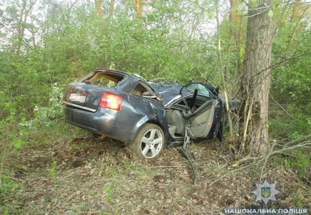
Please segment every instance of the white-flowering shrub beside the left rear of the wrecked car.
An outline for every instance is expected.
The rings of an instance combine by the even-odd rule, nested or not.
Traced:
[[[34,118],[20,123],[22,126],[37,127],[37,126],[50,126],[62,118],[63,87],[54,83],[51,91],[49,92],[48,106],[34,106]]]

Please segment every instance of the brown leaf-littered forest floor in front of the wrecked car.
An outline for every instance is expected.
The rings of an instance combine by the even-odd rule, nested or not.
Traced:
[[[192,184],[189,162],[175,147],[146,162],[109,138],[43,139],[7,159],[10,180],[18,185],[0,199],[0,214],[223,214],[226,207],[258,206],[250,190],[261,167],[221,178],[236,158],[218,140],[189,146],[196,172]],[[262,178],[277,182],[282,191],[270,206],[310,208],[309,175],[301,179],[275,160],[266,164]]]

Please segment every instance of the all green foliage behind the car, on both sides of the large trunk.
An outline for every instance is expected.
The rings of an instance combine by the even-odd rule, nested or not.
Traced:
[[[28,8],[30,1],[25,2],[25,11],[32,11]],[[109,5],[110,0],[101,1],[104,27],[93,1],[76,1],[69,7],[62,1],[39,0],[35,3],[37,13],[31,19],[22,19],[22,23],[20,2],[7,0],[1,7],[0,23],[11,31],[0,34],[0,135],[7,137],[15,152],[35,129],[46,132],[46,128],[54,129],[61,123],[64,87],[96,67],[137,73],[146,79],[161,77],[180,83],[192,79],[220,85],[214,24],[218,3],[145,1],[141,22],[130,1],[117,2],[113,16],[109,15]],[[251,0],[250,5],[258,6],[257,0]],[[225,10],[219,10],[226,87],[230,95],[237,92],[237,97],[245,49],[246,6],[238,1],[241,19],[234,24],[222,12]],[[293,5],[283,6],[278,0],[267,10],[276,24],[272,64],[293,57],[271,71],[270,94],[282,108],[270,99],[269,133],[288,139],[311,133],[310,54],[294,57],[311,46],[309,17],[291,20],[292,10]],[[19,24],[25,28],[23,33],[17,29]],[[232,38],[231,29],[240,35]],[[55,135],[71,135],[65,133],[62,130]]]

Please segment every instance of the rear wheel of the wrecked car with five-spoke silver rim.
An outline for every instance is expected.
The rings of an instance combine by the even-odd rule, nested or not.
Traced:
[[[164,140],[164,133],[158,125],[146,123],[136,133],[129,148],[140,159],[154,159],[160,154]]]

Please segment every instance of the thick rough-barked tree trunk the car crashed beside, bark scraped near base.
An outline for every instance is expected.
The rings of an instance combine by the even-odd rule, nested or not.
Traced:
[[[259,2],[262,2],[261,4]],[[258,0],[249,6],[243,72],[241,75],[243,129],[240,144],[248,145],[250,153],[260,154],[268,149],[268,93],[272,19],[267,15],[269,0]]]

